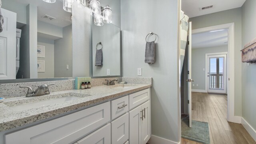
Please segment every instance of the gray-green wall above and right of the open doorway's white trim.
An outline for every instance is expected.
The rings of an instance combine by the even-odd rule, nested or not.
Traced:
[[[189,19],[192,29],[216,26],[220,24],[235,23],[235,115],[242,116],[242,78],[241,78],[241,39],[242,39],[242,8],[235,8],[197,16]]]

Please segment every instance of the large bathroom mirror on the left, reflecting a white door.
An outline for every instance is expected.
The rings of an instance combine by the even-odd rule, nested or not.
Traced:
[[[72,13],[61,0],[2,0],[2,14],[0,80],[72,77]]]

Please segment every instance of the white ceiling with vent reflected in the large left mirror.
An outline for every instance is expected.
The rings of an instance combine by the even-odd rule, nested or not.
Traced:
[[[20,4],[33,4],[37,6],[38,20],[41,20],[43,22],[53,24],[55,26],[60,26],[60,27],[65,27],[72,24],[71,22],[72,13],[66,12],[65,10],[63,10],[62,8],[63,4],[62,4],[62,1],[60,0],[56,0],[56,2],[52,4],[44,2],[43,0],[13,0],[13,1]],[[45,14],[52,16],[56,19],[46,20],[44,18],[41,18]]]

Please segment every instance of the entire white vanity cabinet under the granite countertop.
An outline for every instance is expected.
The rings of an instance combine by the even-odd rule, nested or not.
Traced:
[[[5,135],[5,144],[146,144],[150,88]]]

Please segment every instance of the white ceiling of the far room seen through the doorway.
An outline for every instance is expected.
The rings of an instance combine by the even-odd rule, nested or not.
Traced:
[[[228,29],[192,34],[192,48],[209,48],[228,45]]]

